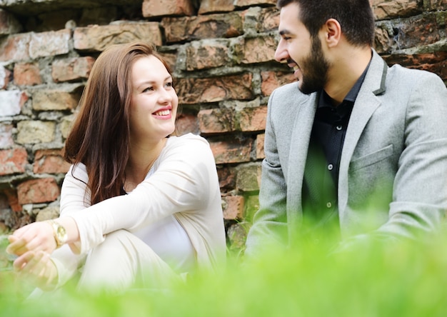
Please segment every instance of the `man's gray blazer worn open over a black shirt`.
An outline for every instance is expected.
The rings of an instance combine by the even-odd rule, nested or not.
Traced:
[[[301,189],[317,94],[282,86],[268,101],[260,208],[246,254],[289,245],[301,230]],[[389,68],[376,51],[353,106],[341,153],[341,236],[415,237],[447,210],[447,89],[427,71]]]

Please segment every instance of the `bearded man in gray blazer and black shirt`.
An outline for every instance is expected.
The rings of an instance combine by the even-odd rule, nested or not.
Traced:
[[[443,81],[386,65],[372,49],[368,0],[279,0],[278,8],[275,59],[298,82],[268,102],[246,256],[318,241],[331,228],[339,248],[434,231],[447,209]]]

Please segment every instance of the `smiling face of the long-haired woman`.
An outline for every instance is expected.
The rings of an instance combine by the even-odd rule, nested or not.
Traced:
[[[164,64],[152,55],[141,57],[131,79],[131,139],[156,142],[172,134],[179,98]]]

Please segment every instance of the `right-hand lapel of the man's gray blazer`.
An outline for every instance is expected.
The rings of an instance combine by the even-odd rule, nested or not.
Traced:
[[[338,178],[339,211],[343,211],[348,203],[349,163],[351,162],[353,152],[356,149],[363,129],[365,129],[374,111],[381,104],[376,95],[382,94],[385,91],[387,69],[386,62],[373,50],[373,59],[353,106],[351,119],[349,120],[343,143],[343,150],[341,152]]]

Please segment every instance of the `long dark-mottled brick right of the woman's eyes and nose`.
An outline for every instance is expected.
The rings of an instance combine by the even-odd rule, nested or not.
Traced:
[[[179,79],[177,94],[181,104],[198,104],[223,100],[250,100],[254,93],[251,87],[252,74],[212,78]]]

